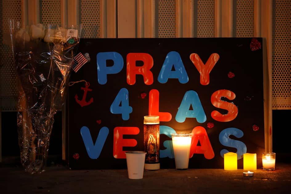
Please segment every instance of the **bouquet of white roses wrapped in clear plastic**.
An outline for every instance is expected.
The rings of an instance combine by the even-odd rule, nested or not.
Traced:
[[[19,80],[18,143],[25,171],[44,171],[55,113],[66,87],[80,41],[82,25],[21,27],[10,20],[10,37]]]

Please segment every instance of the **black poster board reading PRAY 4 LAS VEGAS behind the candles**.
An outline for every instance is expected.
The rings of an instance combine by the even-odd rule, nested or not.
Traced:
[[[78,50],[83,54],[88,53],[91,61],[85,64],[77,73],[73,72],[70,82],[86,80],[90,85],[89,87],[87,85],[86,89],[83,81],[75,83],[69,88],[68,128],[69,166],[71,169],[126,168],[126,159],[116,158],[116,155],[114,157],[114,150],[133,151],[144,149],[143,116],[149,115],[150,91],[153,89],[159,92],[159,111],[168,112],[172,115],[170,121],[160,122],[160,126],[167,126],[163,127],[163,131],[167,131],[171,127],[176,132],[192,132],[194,127],[201,126],[207,133],[209,141],[207,137],[202,135],[199,141],[196,141],[195,146],[198,150],[200,149],[200,152],[203,152],[203,150],[201,151],[201,140],[204,141],[203,145],[210,142],[213,153],[208,155],[208,159],[205,158],[204,154],[194,153],[192,158],[189,159],[189,168],[224,168],[222,156],[226,152],[225,149],[229,152],[238,152],[238,154],[240,152],[238,168],[243,168],[242,152],[257,153],[257,164],[258,166],[260,165],[261,153],[264,152],[265,146],[262,38],[81,39]],[[101,55],[98,55],[99,53]],[[133,53],[131,55],[133,58],[130,58],[129,53]],[[146,55],[134,55],[134,53],[146,53]],[[153,67],[150,69],[153,83],[147,85],[144,82],[143,75],[136,75],[135,83],[133,85],[128,84],[127,61],[131,59],[150,59],[149,55],[153,60]],[[98,56],[99,70],[97,70]],[[106,60],[108,56],[115,57],[115,61]],[[209,64],[214,64],[209,73],[209,83],[207,83],[206,78],[206,81],[204,79],[202,81],[203,84],[201,84],[200,72],[190,59],[191,56],[192,60],[196,60],[196,62],[200,59],[200,62],[205,66],[208,59]],[[122,69],[117,67],[120,59],[123,63]],[[104,65],[104,60],[106,65]],[[216,60],[218,61],[216,62]],[[135,64],[130,63],[130,67],[134,68],[136,66],[138,68],[148,62],[137,60]],[[164,64],[165,66],[163,66]],[[115,70],[113,67],[116,67]],[[170,70],[169,67],[171,67]],[[201,67],[204,68],[203,66]],[[104,70],[106,68],[108,68],[107,71]],[[100,71],[99,76],[97,71]],[[184,71],[188,76],[188,81]],[[112,74],[106,75],[104,72],[111,72]],[[174,78],[171,78],[171,76]],[[104,80],[106,83],[104,83]],[[162,83],[165,80],[166,82]],[[86,95],[84,95],[85,90],[87,92]],[[127,99],[125,97],[126,91],[128,91]],[[187,93],[188,91],[191,92]],[[218,95],[218,91],[224,91],[220,93],[222,96]],[[231,94],[232,97],[223,97],[226,94],[225,91]],[[127,114],[111,113],[111,105],[119,92],[121,92],[120,99],[125,101],[122,104],[117,100],[113,106],[115,108],[119,105],[125,106],[128,102],[128,105],[132,108],[129,118],[126,118]],[[186,100],[188,103],[184,101],[186,93],[188,94],[188,101]],[[195,102],[200,101],[200,103],[188,106],[189,102],[193,102],[191,99],[197,97],[196,94],[199,100],[197,101],[196,99]],[[211,101],[212,96],[214,100],[218,100],[218,102],[214,103],[215,106]],[[91,100],[91,98],[93,99]],[[81,100],[84,103],[82,104],[83,107],[77,103],[77,100]],[[128,101],[126,102],[126,100]],[[179,113],[178,122],[177,113],[179,107],[182,107],[182,101],[184,102],[184,112],[181,108],[182,113]],[[233,109],[233,107],[229,111],[223,107],[219,108],[217,105],[222,103],[225,104],[224,107],[234,105],[237,110]],[[205,113],[205,118],[201,116],[201,114],[204,115],[203,111],[201,112],[201,107]],[[197,112],[198,109],[200,110],[199,113]],[[188,110],[189,114],[186,114],[185,110]],[[127,109],[128,111],[130,112]],[[229,114],[235,115],[235,111],[238,112],[229,121],[218,121],[217,118],[214,119],[212,117],[213,111],[218,111],[216,114],[219,113],[220,118]],[[183,115],[188,117],[192,113],[194,113],[194,118],[185,118],[185,121],[182,121]],[[199,119],[195,114],[198,114]],[[116,139],[115,132],[118,131],[116,127],[135,127],[134,129],[131,128],[135,131],[135,135],[132,135],[133,133],[131,135],[121,135],[122,137],[119,136],[119,139]],[[82,130],[83,136],[81,135]],[[168,130],[168,132],[170,134],[171,130]],[[97,139],[97,137],[100,137],[100,139]],[[104,137],[106,139],[102,141]],[[87,144],[84,143],[84,138],[87,138]],[[97,143],[95,144],[96,139]],[[125,146],[120,148],[120,145],[122,145],[120,142],[123,139],[125,141],[126,139],[135,139],[137,144],[134,147]],[[169,153],[165,153],[162,150],[170,149],[167,148],[170,143],[171,138],[169,136],[160,135],[160,150],[163,152],[161,156]],[[91,149],[91,157],[87,152],[88,149]],[[211,152],[209,147],[208,151]],[[161,157],[160,164],[161,168],[175,168],[174,158],[171,157]]]

